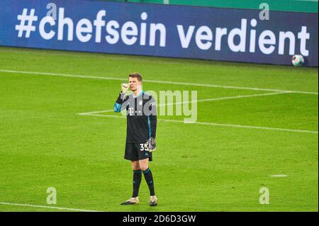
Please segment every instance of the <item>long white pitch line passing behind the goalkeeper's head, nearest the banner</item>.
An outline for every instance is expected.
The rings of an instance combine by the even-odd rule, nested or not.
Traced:
[[[14,70],[6,70],[0,69],[0,72],[4,73],[20,73],[20,74],[39,74],[39,75],[50,75],[50,76],[58,76],[58,77],[75,77],[75,78],[83,78],[83,79],[105,79],[105,80],[119,80],[125,81],[126,78],[115,78],[115,77],[96,77],[89,75],[79,75],[79,74],[57,74],[57,73],[47,73],[47,72],[25,72],[25,71],[14,71]],[[176,85],[185,85],[185,86],[206,86],[206,87],[214,87],[214,88],[222,88],[222,89],[246,89],[246,90],[257,90],[257,91],[273,91],[273,92],[289,92],[295,94],[314,94],[318,95],[315,92],[308,91],[289,91],[289,90],[280,90],[280,89],[262,89],[262,88],[254,88],[254,87],[240,87],[240,86],[219,86],[213,84],[197,84],[197,83],[186,83],[186,82],[177,82],[177,81],[157,81],[157,80],[144,80],[150,83],[159,83],[159,84],[176,84]]]

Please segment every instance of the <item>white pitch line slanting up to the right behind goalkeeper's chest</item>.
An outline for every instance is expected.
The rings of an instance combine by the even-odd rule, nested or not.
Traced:
[[[157,106],[172,106],[177,104],[185,104],[185,103],[195,103],[195,102],[206,102],[206,101],[222,101],[222,100],[230,100],[230,99],[239,99],[239,98],[249,98],[249,97],[256,97],[256,96],[271,96],[271,95],[277,95],[277,94],[291,94],[291,92],[285,91],[285,92],[278,92],[278,93],[267,93],[267,94],[252,94],[252,95],[242,95],[242,96],[225,96],[220,98],[208,98],[203,100],[197,100],[197,101],[184,101],[184,102],[177,102],[177,103],[162,103]],[[88,114],[96,114],[96,113],[107,113],[111,112],[111,110],[105,110],[105,111],[91,111],[91,112],[84,112],[79,113],[79,115],[88,115]]]

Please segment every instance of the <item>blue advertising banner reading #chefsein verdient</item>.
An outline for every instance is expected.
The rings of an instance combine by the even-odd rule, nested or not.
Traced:
[[[259,14],[104,1],[2,0],[0,45],[263,64],[291,64],[298,54],[307,66],[318,67],[318,13]]]

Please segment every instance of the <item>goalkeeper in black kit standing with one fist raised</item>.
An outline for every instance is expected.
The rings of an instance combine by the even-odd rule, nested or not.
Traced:
[[[157,205],[154,180],[148,162],[155,151],[157,109],[155,99],[142,91],[142,77],[138,73],[129,74],[129,84],[122,84],[122,91],[114,105],[115,112],[126,110],[127,130],[124,159],[131,162],[133,169],[133,195],[121,205],[138,204],[138,191],[142,174],[150,189],[150,205]],[[133,94],[125,96],[130,89]]]

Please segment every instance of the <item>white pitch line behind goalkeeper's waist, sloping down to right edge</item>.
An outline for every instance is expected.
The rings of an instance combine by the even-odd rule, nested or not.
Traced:
[[[98,116],[98,117],[109,117],[109,118],[126,118],[126,116],[121,115],[99,115],[99,114],[81,114],[87,116]],[[167,122],[167,123],[184,123],[184,120],[172,120],[172,119],[161,119],[157,118],[158,121]],[[203,122],[194,122],[187,124],[199,124],[199,125],[215,125],[215,126],[223,126],[223,127],[233,127],[233,128],[247,128],[247,129],[257,129],[257,130],[279,130],[286,132],[308,132],[318,134],[318,131],[313,130],[291,130],[284,128],[272,128],[272,127],[261,127],[261,126],[250,126],[250,125],[233,125],[233,124],[222,124],[222,123],[203,123]]]

